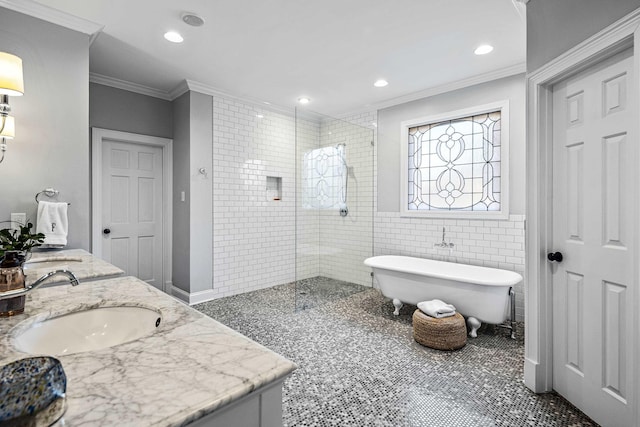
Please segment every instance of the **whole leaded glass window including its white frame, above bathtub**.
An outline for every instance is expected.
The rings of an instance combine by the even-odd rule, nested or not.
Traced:
[[[506,101],[402,123],[403,213],[508,215]]]

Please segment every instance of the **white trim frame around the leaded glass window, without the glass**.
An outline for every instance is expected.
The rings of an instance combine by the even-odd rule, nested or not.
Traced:
[[[420,211],[410,210],[409,204],[409,156],[407,135],[412,127],[429,123],[455,120],[462,117],[475,116],[500,110],[500,210],[499,211]],[[448,218],[448,219],[496,219],[509,218],[509,101],[502,100],[490,104],[450,111],[443,114],[419,117],[400,123],[400,216],[413,218]]]

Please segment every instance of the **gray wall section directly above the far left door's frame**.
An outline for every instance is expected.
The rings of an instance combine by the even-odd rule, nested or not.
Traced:
[[[173,138],[171,101],[89,85],[89,126]]]

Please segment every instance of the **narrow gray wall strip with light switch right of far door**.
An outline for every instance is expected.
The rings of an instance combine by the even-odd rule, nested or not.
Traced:
[[[190,93],[173,101],[173,286],[189,292],[190,283]],[[181,193],[185,201],[181,201]]]

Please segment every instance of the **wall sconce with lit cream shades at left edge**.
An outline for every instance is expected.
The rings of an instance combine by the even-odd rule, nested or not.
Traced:
[[[22,77],[22,59],[6,52],[0,52],[0,152],[4,160],[4,153],[7,151],[7,139],[15,136],[15,120],[9,115],[10,96],[22,96],[24,93],[24,79]]]

